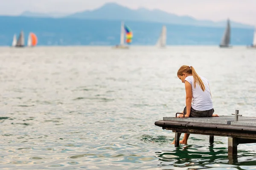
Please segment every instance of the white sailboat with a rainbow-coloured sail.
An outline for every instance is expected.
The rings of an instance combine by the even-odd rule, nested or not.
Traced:
[[[114,46],[116,49],[128,49],[129,46],[125,45],[125,43],[130,44],[133,38],[133,34],[131,29],[126,26],[123,22],[121,23],[121,35],[120,35],[120,44]]]

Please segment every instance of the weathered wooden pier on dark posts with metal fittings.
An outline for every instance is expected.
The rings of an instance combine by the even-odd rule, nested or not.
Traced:
[[[182,113],[176,113],[182,114]],[[239,144],[256,143],[256,117],[243,117],[236,110],[235,116],[209,118],[164,117],[155,125],[175,132],[175,147],[179,146],[181,133],[209,135],[209,142],[214,136],[228,137],[228,155],[237,155]]]

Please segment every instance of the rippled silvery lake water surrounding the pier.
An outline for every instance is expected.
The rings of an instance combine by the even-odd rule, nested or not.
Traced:
[[[256,144],[232,159],[226,137],[175,148],[175,134],[154,126],[185,106],[183,64],[210,81],[215,113],[256,116],[256,50],[2,47],[0,60],[3,170],[256,169]]]

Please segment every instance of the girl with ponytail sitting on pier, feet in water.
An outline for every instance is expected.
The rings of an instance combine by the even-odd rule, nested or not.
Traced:
[[[186,107],[183,110],[185,117],[219,117],[213,114],[212,94],[206,78],[199,76],[194,67],[185,65],[180,67],[177,76],[185,84],[186,89]],[[183,115],[180,114],[178,117]],[[187,144],[188,138],[189,133],[185,133],[180,144]]]

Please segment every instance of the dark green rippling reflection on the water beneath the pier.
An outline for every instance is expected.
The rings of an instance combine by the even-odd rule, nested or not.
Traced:
[[[256,169],[256,153],[246,150],[239,150],[238,156],[228,156],[227,148],[198,147],[187,145],[177,147],[175,150],[163,150],[156,152],[156,157],[160,161],[159,166],[187,167],[188,169],[221,168],[233,169],[243,164],[250,165],[250,169]]]

